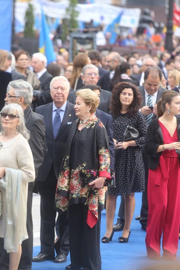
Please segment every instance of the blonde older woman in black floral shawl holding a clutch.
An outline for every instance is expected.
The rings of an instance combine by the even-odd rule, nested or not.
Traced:
[[[110,176],[106,129],[95,116],[98,96],[90,89],[76,92],[67,149],[58,179],[55,207],[69,210],[71,264],[66,269],[101,270],[100,221]]]

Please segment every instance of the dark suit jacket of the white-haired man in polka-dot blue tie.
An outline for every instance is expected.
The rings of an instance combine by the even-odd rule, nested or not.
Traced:
[[[36,113],[44,116],[44,123],[46,127],[46,145],[48,148],[48,152],[44,157],[43,164],[39,168],[37,180],[40,182],[44,182],[46,180],[52,163],[54,166],[55,175],[58,179],[61,162],[66,149],[67,133],[70,123],[77,118],[75,115],[74,105],[67,102],[61,127],[55,139],[52,130],[52,103],[38,107],[36,109]]]

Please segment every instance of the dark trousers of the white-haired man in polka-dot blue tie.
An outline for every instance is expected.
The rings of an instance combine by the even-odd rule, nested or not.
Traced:
[[[69,238],[68,238],[68,220],[67,211],[59,217],[59,235],[60,239],[54,245],[55,238],[55,217],[54,209],[55,191],[57,186],[57,178],[54,173],[53,165],[47,176],[46,181],[38,182],[38,190],[41,195],[40,213],[41,213],[41,253],[51,256],[57,254],[68,255],[69,253]]]

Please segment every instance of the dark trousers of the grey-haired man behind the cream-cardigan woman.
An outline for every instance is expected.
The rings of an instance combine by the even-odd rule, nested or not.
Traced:
[[[32,252],[33,252],[33,223],[32,223],[32,190],[33,184],[28,184],[28,199],[27,199],[27,232],[28,239],[22,241],[22,254],[18,266],[18,270],[31,270],[32,268]],[[0,245],[4,247],[4,239],[1,238]],[[1,254],[1,270],[9,269],[9,253],[3,250]]]

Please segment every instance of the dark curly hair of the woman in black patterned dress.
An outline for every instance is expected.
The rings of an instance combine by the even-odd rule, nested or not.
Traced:
[[[140,109],[141,104],[143,102],[142,95],[139,91],[139,89],[136,87],[136,85],[132,84],[131,82],[119,82],[117,83],[112,91],[112,99],[111,99],[111,114],[113,116],[119,116],[120,110],[122,108],[121,102],[120,102],[120,94],[122,90],[125,88],[131,88],[133,91],[133,101],[129,106],[129,110],[127,113],[127,117],[134,116]]]

